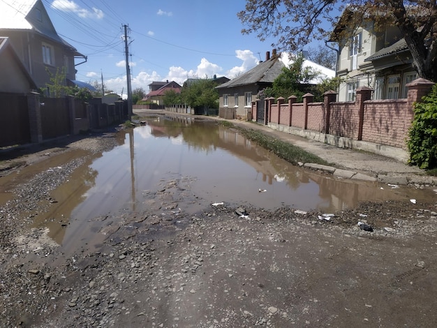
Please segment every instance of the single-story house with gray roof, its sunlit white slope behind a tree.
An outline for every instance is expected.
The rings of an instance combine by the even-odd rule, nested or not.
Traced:
[[[290,64],[292,64],[290,54],[286,52],[277,54],[276,50],[273,50],[272,57],[270,57],[270,52],[266,52],[265,61],[261,61],[260,64],[246,73],[216,87],[220,97],[219,109],[221,112],[227,112],[226,117],[249,119],[252,102],[258,100],[258,93],[262,89],[272,87],[276,77],[282,73],[282,69],[289,67]],[[318,77],[310,81],[310,84],[317,84],[327,77],[335,76],[334,70],[320,66],[308,59],[304,61],[303,66],[311,66],[319,72]],[[230,111],[233,112],[232,115],[229,114]]]

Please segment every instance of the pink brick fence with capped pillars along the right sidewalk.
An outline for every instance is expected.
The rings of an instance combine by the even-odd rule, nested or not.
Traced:
[[[414,117],[413,103],[428,94],[434,82],[422,78],[407,84],[404,99],[371,100],[372,89],[361,87],[353,102],[336,102],[336,92],[324,94],[322,103],[313,103],[313,95],[305,94],[303,103],[296,97],[265,99],[267,124],[276,130],[303,135],[339,147],[353,147],[354,141],[407,149],[408,129]],[[252,103],[252,119],[257,117]]]

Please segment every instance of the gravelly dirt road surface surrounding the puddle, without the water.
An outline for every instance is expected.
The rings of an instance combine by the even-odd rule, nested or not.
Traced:
[[[198,214],[163,216],[189,193],[176,179],[151,191],[159,208],[91,218],[105,224],[98,249],[71,253],[29,229],[77,165],[117,142],[44,149],[31,163],[62,155],[56,172],[0,178],[1,327],[435,327],[437,204],[366,203],[328,220],[205,199]]]

